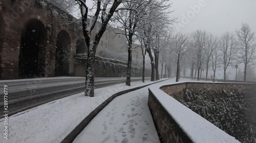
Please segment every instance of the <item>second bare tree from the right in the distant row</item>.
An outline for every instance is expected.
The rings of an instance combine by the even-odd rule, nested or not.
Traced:
[[[222,66],[224,69],[224,82],[226,81],[226,70],[229,65],[234,61],[234,56],[236,54],[236,38],[234,34],[229,32],[224,33],[220,40],[220,51],[222,55]]]

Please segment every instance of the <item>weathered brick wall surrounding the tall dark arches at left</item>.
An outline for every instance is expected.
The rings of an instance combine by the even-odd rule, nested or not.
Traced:
[[[57,35],[60,31],[65,30],[71,39],[70,49],[66,53],[68,55],[69,75],[74,75],[75,44],[77,39],[83,36],[82,32],[77,30],[79,25],[63,22],[72,21],[73,16],[50,3],[38,3],[34,0],[3,1],[1,9],[0,21],[5,19],[4,22],[0,23],[1,79],[19,78],[20,39],[23,28],[30,19],[40,20],[47,30],[47,45],[38,55],[38,62],[42,62],[41,74],[54,76]]]

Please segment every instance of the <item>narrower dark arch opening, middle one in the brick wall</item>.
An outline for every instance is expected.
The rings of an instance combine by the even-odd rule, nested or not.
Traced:
[[[62,30],[57,36],[55,52],[55,76],[69,75],[69,52],[71,51],[71,38],[67,31]]]

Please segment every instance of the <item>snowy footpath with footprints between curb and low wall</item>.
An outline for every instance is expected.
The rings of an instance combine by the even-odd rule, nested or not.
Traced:
[[[147,100],[148,87],[116,97],[73,143],[160,143]]]

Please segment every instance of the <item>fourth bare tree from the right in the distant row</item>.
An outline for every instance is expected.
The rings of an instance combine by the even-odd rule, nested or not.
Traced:
[[[208,68],[209,68],[209,62],[210,62],[210,58],[212,55],[212,52],[214,52],[214,49],[217,48],[218,46],[218,38],[212,34],[208,34],[208,38],[205,44],[205,59],[206,59],[206,77],[205,77],[205,81],[207,81],[207,77],[208,77]]]

